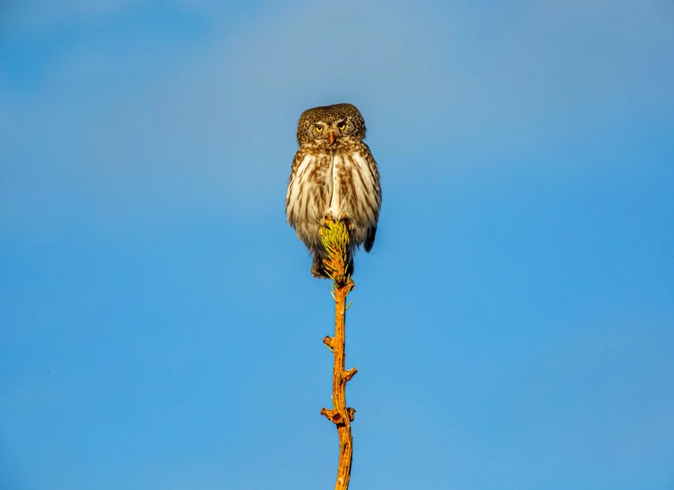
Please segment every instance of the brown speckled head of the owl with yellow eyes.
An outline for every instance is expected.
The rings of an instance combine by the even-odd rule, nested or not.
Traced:
[[[337,146],[341,138],[365,138],[365,120],[355,105],[336,103],[307,109],[299,116],[297,143],[323,142],[326,147]]]

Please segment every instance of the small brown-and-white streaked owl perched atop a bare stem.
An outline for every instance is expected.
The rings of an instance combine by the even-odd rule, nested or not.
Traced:
[[[286,217],[313,255],[311,273],[327,278],[327,258],[319,230],[324,218],[343,219],[349,226],[347,272],[362,245],[372,249],[381,209],[377,162],[365,138],[365,120],[350,103],[315,107],[297,123],[299,149],[293,160]]]

